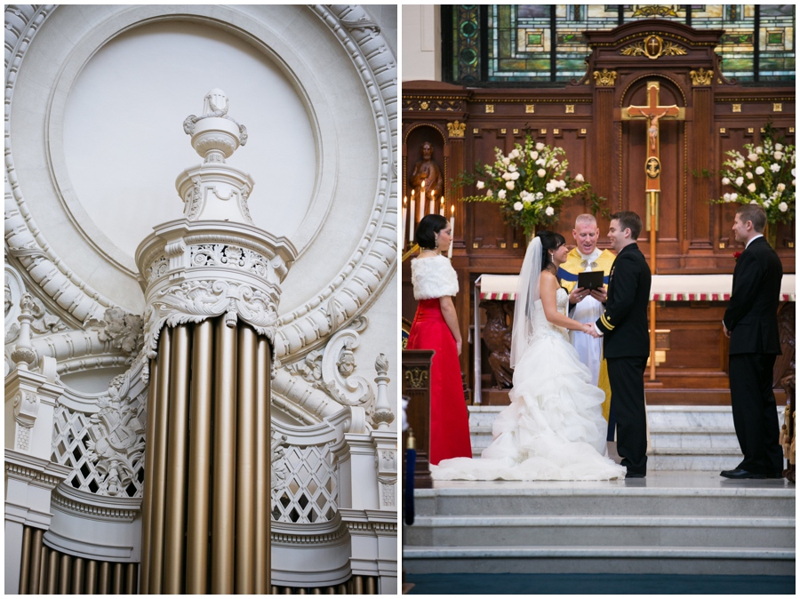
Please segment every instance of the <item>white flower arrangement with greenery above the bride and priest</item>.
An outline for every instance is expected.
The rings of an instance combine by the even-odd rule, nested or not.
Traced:
[[[526,135],[524,146],[515,144],[508,156],[500,148],[494,151],[494,164],[476,164],[476,172],[461,173],[456,185],[475,183],[479,193],[464,202],[500,204],[506,222],[524,228],[525,236],[537,225],[556,223],[566,198],[591,193],[582,175],[570,176],[564,148],[534,143]]]

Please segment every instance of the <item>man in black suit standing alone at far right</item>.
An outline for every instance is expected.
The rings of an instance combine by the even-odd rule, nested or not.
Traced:
[[[778,444],[778,413],[772,393],[772,367],[780,354],[778,300],[783,268],[764,239],[766,213],[743,204],[733,219],[733,236],[745,244],[733,269],[733,290],[723,331],[731,339],[728,378],[733,426],[744,459],[725,478],[780,478],[783,452]]]

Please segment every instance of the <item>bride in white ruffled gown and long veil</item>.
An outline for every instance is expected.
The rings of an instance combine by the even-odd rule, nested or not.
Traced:
[[[566,316],[568,295],[556,279],[564,237],[540,231],[525,253],[511,337],[511,404],[492,427],[482,459],[444,459],[434,480],[594,481],[624,478],[605,457],[604,392],[590,383],[567,330],[594,334]]]

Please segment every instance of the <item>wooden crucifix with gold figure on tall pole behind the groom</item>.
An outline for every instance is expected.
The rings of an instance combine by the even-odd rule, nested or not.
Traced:
[[[659,156],[659,121],[665,116],[683,120],[684,108],[659,106],[660,85],[647,82],[647,106],[629,106],[623,118],[647,119],[647,159],[644,161],[644,193],[647,195],[647,229],[650,231],[650,270],[656,272],[656,230],[659,228],[659,195],[661,193],[661,161]],[[650,380],[655,382],[655,301],[650,302]]]

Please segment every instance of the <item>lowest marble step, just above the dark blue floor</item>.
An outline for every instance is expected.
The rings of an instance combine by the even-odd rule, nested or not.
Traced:
[[[403,569],[435,573],[795,575],[794,549],[725,547],[405,547]]]

